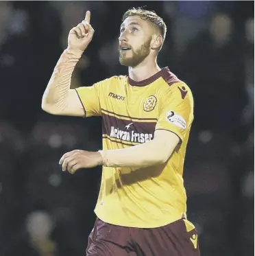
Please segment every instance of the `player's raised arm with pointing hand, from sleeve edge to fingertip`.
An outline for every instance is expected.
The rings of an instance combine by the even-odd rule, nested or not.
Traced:
[[[84,107],[77,91],[70,89],[71,75],[83,51],[93,38],[94,30],[90,25],[90,12],[82,23],[69,32],[68,47],[64,50],[51,75],[42,96],[42,109],[52,115],[84,116]]]

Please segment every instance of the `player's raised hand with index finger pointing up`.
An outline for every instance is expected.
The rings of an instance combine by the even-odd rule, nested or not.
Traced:
[[[92,40],[94,32],[95,30],[90,25],[90,11],[87,11],[84,21],[70,30],[68,49],[80,49],[84,51]]]

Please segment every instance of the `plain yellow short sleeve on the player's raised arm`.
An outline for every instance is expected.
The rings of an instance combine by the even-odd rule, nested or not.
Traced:
[[[101,115],[100,89],[104,81],[97,82],[93,86],[82,86],[77,89],[78,96],[84,107],[86,117]]]

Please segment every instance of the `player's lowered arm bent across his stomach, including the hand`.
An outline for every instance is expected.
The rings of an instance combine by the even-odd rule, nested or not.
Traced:
[[[180,139],[169,130],[156,130],[151,141],[118,150],[88,152],[73,150],[62,156],[60,165],[63,171],[75,173],[81,168],[97,165],[107,167],[147,167],[165,163],[178,145]]]

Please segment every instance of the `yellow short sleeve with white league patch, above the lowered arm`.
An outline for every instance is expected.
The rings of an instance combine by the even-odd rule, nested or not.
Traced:
[[[181,141],[191,128],[193,121],[193,95],[184,83],[173,84],[162,97],[155,130],[169,130],[174,132]]]

